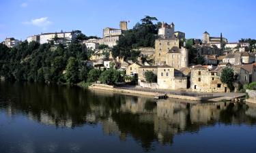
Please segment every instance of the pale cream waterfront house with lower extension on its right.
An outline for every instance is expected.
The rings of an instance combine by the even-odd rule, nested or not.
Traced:
[[[175,90],[187,87],[187,78],[168,65],[158,66],[157,76],[158,88]]]

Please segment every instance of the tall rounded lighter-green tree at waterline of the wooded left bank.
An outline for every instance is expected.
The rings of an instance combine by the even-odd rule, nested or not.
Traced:
[[[65,79],[68,84],[75,84],[79,80],[79,63],[76,58],[70,57],[66,66]]]

